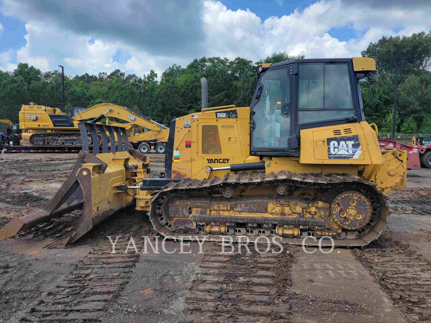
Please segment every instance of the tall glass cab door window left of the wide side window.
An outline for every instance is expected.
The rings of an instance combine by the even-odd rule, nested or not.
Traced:
[[[288,69],[266,71],[259,83],[263,87],[253,106],[252,146],[287,148],[290,137],[290,77]]]

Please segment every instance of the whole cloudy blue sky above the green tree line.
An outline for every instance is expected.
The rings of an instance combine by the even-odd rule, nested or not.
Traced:
[[[351,57],[382,36],[429,31],[430,16],[428,0],[0,0],[0,69],[160,75],[201,56]]]

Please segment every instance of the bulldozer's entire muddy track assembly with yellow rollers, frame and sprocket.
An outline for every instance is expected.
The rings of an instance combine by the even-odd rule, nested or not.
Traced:
[[[221,241],[229,235],[254,242],[278,236],[277,242],[318,245],[331,236],[334,246],[344,247],[377,239],[388,215],[384,195],[361,177],[288,171],[169,183],[150,208],[154,229],[172,239]],[[332,242],[322,239],[321,245]]]

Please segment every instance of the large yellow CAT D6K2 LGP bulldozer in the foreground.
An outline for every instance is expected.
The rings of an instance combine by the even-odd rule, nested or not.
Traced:
[[[376,125],[365,121],[359,80],[375,70],[374,59],[365,57],[259,64],[250,107],[208,108],[202,79],[201,112],[170,124],[164,178],[149,177],[148,158],[139,155],[141,165],[133,149],[121,162],[116,153],[83,151],[88,160],[78,160],[71,174],[79,185],[65,183],[44,210],[3,227],[0,239],[70,211],[77,205],[72,196],[82,192],[81,224],[68,242],[100,214],[122,208],[114,199],[133,197],[154,230],[169,238],[278,237],[314,245],[331,237],[337,246],[368,245],[387,225],[385,194],[406,186],[406,152],[381,150]],[[106,133],[103,125],[79,127],[83,136],[86,129]]]

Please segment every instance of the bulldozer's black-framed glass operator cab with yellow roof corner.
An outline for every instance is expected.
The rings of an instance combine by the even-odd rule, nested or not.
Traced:
[[[294,59],[257,67],[251,155],[299,156],[301,129],[365,121],[359,80],[373,59]]]

